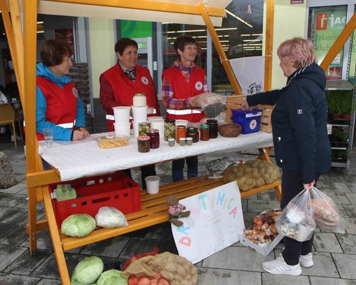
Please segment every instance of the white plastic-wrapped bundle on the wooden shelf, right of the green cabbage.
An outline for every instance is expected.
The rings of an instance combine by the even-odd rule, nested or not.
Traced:
[[[126,217],[115,207],[101,207],[95,215],[97,226],[103,228],[117,228],[119,226],[129,226]]]

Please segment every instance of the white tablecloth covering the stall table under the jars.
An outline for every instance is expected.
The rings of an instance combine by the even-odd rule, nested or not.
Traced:
[[[160,140],[159,148],[140,153],[137,141],[131,135],[129,145],[101,149],[95,138],[113,133],[96,133],[84,141],[56,141],[48,149],[44,141],[38,142],[38,153],[45,161],[59,170],[62,181],[75,180],[80,177],[124,170],[146,164],[180,159],[186,156],[207,154],[211,152],[234,152],[273,145],[272,134],[264,131],[240,135],[237,138],[218,138],[206,142],[199,141],[192,146],[181,147],[176,143],[169,147],[168,142]]]

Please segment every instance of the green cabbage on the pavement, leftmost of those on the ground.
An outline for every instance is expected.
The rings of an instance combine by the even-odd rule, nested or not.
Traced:
[[[80,261],[74,268],[71,285],[93,284],[104,270],[104,263],[97,256],[90,256]]]

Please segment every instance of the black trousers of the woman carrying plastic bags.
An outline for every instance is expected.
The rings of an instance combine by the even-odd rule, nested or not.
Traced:
[[[315,174],[315,186],[320,175]],[[303,182],[301,180],[301,175],[299,172],[283,170],[282,175],[282,200],[280,201],[280,208],[283,210],[284,207],[297,196],[298,193],[303,191]],[[306,255],[311,252],[313,247],[312,235],[310,240],[305,242],[298,242],[292,238],[284,238],[285,248],[283,249],[283,258],[288,265],[297,265],[299,263],[299,257],[301,255]]]

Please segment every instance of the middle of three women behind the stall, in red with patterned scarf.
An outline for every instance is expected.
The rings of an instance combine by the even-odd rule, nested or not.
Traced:
[[[144,93],[147,98],[148,112],[160,116],[159,101],[155,85],[148,68],[137,65],[138,45],[131,38],[121,38],[115,44],[118,63],[100,75],[100,102],[106,111],[108,131],[114,131],[113,107],[133,105],[134,94]],[[150,116],[148,115],[148,116]],[[131,177],[131,171],[125,170]],[[141,166],[142,188],[145,189],[145,177],[156,175],[155,165]]]

